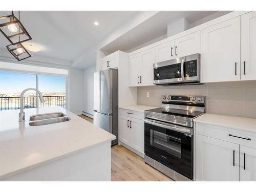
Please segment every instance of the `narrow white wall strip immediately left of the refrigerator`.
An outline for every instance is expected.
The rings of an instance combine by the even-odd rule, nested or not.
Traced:
[[[93,74],[96,72],[96,65],[93,65],[83,71],[83,93],[84,105],[83,111],[93,116]]]

